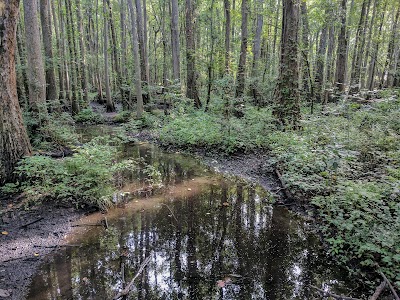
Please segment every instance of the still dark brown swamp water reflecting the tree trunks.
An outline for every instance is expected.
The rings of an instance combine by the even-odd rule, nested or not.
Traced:
[[[71,246],[34,277],[28,299],[112,299],[147,257],[128,299],[321,299],[309,284],[343,294],[354,288],[327,263],[307,222],[271,205],[262,188],[149,144],[125,155],[155,166],[165,188],[80,220],[106,217],[109,227],[77,227]],[[138,186],[132,180],[125,190]]]

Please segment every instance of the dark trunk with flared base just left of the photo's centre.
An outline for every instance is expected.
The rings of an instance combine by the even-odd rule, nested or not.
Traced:
[[[186,97],[194,101],[196,108],[200,108],[202,105],[197,90],[194,22],[193,0],[186,0]]]

